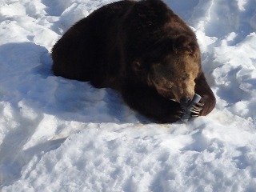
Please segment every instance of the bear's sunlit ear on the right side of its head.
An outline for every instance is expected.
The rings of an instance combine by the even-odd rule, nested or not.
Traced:
[[[175,39],[173,49],[176,54],[180,52],[189,54],[190,56],[195,56],[197,50],[197,43],[194,42],[191,37],[181,35]]]

